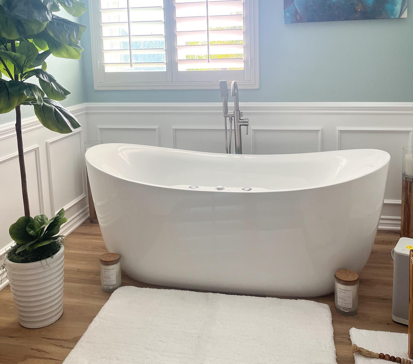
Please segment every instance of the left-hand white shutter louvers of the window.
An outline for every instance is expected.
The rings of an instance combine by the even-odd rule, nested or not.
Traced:
[[[105,72],[166,72],[163,0],[100,0]]]

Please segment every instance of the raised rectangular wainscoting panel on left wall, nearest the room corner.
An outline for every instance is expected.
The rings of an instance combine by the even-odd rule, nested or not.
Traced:
[[[46,141],[51,215],[85,199],[86,179],[82,130]],[[70,153],[66,153],[69,151]],[[70,181],[70,183],[67,183]]]

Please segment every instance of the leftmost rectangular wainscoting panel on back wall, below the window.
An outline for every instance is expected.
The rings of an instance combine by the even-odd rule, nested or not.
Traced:
[[[104,143],[132,143],[159,146],[158,127],[97,127],[98,140]]]

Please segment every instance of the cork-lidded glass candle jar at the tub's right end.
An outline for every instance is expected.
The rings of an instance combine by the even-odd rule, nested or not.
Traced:
[[[348,269],[336,270],[335,308],[342,315],[355,315],[358,308],[358,274]]]

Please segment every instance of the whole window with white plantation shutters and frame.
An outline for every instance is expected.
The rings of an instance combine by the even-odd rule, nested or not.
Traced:
[[[258,0],[91,3],[95,89],[258,88]]]

